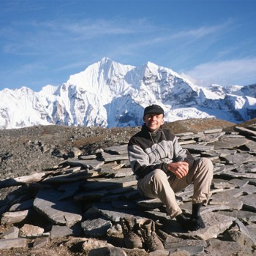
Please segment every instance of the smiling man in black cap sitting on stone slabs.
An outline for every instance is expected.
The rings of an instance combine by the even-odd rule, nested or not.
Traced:
[[[167,214],[187,230],[205,227],[200,207],[208,203],[213,165],[207,158],[195,159],[181,148],[178,138],[163,129],[164,110],[159,105],[145,108],[142,129],[128,144],[129,162],[138,179],[140,194],[159,198]],[[194,184],[191,217],[185,217],[175,193]]]

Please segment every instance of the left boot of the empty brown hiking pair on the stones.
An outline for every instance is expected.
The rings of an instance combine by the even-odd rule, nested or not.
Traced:
[[[121,227],[124,233],[124,244],[129,249],[143,248],[143,243],[136,233],[134,219],[132,217],[122,218],[121,219]]]

